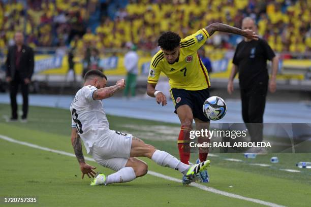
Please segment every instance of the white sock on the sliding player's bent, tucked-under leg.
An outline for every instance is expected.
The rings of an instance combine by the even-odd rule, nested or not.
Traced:
[[[106,184],[110,183],[126,183],[136,178],[133,167],[123,167],[119,171],[107,176]]]

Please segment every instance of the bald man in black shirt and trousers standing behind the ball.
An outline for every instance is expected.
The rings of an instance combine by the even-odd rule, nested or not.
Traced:
[[[242,29],[256,31],[252,18],[246,17],[242,21]],[[272,61],[272,74],[269,82],[267,60]],[[242,117],[251,135],[251,142],[262,142],[263,114],[266,95],[276,89],[276,73],[278,57],[263,39],[258,41],[244,38],[235,50],[233,68],[228,81],[228,93],[233,92],[233,79],[239,73],[239,85],[242,99]],[[247,124],[261,123],[261,124]]]

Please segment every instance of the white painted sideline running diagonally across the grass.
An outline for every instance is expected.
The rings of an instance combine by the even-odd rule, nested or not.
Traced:
[[[59,150],[53,150],[53,149],[50,149],[50,148],[41,147],[39,145],[35,145],[35,144],[27,143],[27,142],[21,142],[21,141],[14,140],[14,139],[12,139],[12,138],[10,138],[8,136],[2,135],[2,134],[0,134],[0,138],[3,139],[3,140],[6,140],[8,142],[11,142],[11,143],[17,143],[17,144],[20,144],[20,145],[36,148],[36,149],[39,149],[39,150],[44,150],[44,151],[48,151],[48,152],[54,152],[54,153],[58,153],[58,154],[61,154],[61,155],[67,155],[67,156],[70,156],[70,157],[76,157],[75,154],[73,154],[73,153],[68,153],[68,152],[59,151]],[[90,157],[84,157],[84,159],[88,160],[88,161],[95,161],[94,159],[92,159]],[[160,174],[158,172],[154,172],[154,171],[148,170],[148,174],[152,175],[152,176],[155,176],[155,177],[164,178],[164,179],[169,180],[169,181],[174,181],[174,182],[177,182],[177,183],[181,183],[181,180],[179,180],[177,178],[166,176],[166,175]],[[201,185],[201,184],[197,184],[197,183],[192,183],[191,186],[197,187],[197,188],[199,188],[201,190],[205,190],[205,191],[208,191],[208,192],[211,192],[211,193],[216,193],[216,194],[224,195],[224,196],[231,197],[231,198],[237,198],[237,199],[246,200],[246,201],[250,201],[250,202],[254,202],[254,203],[259,203],[259,204],[266,205],[266,206],[285,207],[284,205],[279,205],[279,204],[267,202],[267,201],[264,201],[264,200],[259,200],[259,199],[255,199],[255,198],[248,198],[248,197],[244,197],[244,196],[241,196],[241,195],[237,195],[237,194],[233,194],[233,193],[228,193],[228,192],[225,192],[225,191],[217,190],[217,189],[214,189],[214,188],[211,188],[211,187],[207,187],[207,186],[204,186],[204,185]]]

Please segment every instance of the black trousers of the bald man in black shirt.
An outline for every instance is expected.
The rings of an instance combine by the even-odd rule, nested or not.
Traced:
[[[251,135],[251,142],[263,140],[263,114],[266,105],[268,84],[256,84],[252,88],[240,89],[242,117]]]

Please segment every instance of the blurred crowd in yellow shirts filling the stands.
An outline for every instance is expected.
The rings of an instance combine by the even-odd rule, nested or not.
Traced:
[[[85,53],[92,47],[101,53],[132,42],[152,50],[163,31],[186,37],[213,22],[240,27],[242,18],[251,16],[276,52],[304,53],[311,51],[310,8],[309,0],[2,0],[0,48],[12,45],[19,30],[33,48],[71,47]],[[215,33],[206,49],[233,49],[240,40]]]

